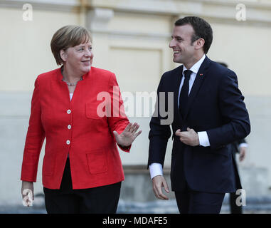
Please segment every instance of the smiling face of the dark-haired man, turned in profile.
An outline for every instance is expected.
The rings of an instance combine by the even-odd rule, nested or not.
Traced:
[[[174,51],[173,61],[175,63],[189,63],[195,55],[194,43],[191,45],[193,27],[190,24],[184,26],[174,26],[169,48]]]

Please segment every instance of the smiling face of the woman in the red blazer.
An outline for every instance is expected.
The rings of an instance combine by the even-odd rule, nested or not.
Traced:
[[[61,50],[60,56],[64,61],[66,70],[83,75],[90,71],[92,65],[92,43],[90,41],[80,43],[78,46],[70,47],[65,51]]]

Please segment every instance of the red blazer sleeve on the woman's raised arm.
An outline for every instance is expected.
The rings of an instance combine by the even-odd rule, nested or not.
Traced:
[[[111,115],[108,120],[108,124],[110,127],[111,134],[113,131],[117,131],[118,134],[121,134],[126,126],[129,124],[129,120],[125,115],[124,104],[122,100],[122,95],[119,90],[119,85],[117,83],[117,78],[114,73],[110,76],[109,80],[109,93],[111,97]],[[114,136],[113,136],[114,137]],[[114,137],[115,140],[115,137]],[[115,140],[116,142],[116,140]],[[121,150],[124,152],[129,152],[131,149],[131,145],[128,147],[123,147],[122,145],[118,145]]]

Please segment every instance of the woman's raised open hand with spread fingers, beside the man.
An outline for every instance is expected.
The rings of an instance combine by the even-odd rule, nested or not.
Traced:
[[[117,144],[124,147],[131,145],[132,142],[134,142],[134,140],[137,138],[137,136],[142,133],[142,130],[139,130],[139,132],[137,133],[138,128],[139,125],[137,123],[129,123],[121,134],[113,131]]]

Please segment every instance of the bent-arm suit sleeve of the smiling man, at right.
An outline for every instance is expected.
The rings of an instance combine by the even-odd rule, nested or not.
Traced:
[[[245,138],[250,133],[248,110],[233,71],[227,72],[221,78],[218,94],[220,113],[225,124],[207,130],[211,148],[215,150]]]

